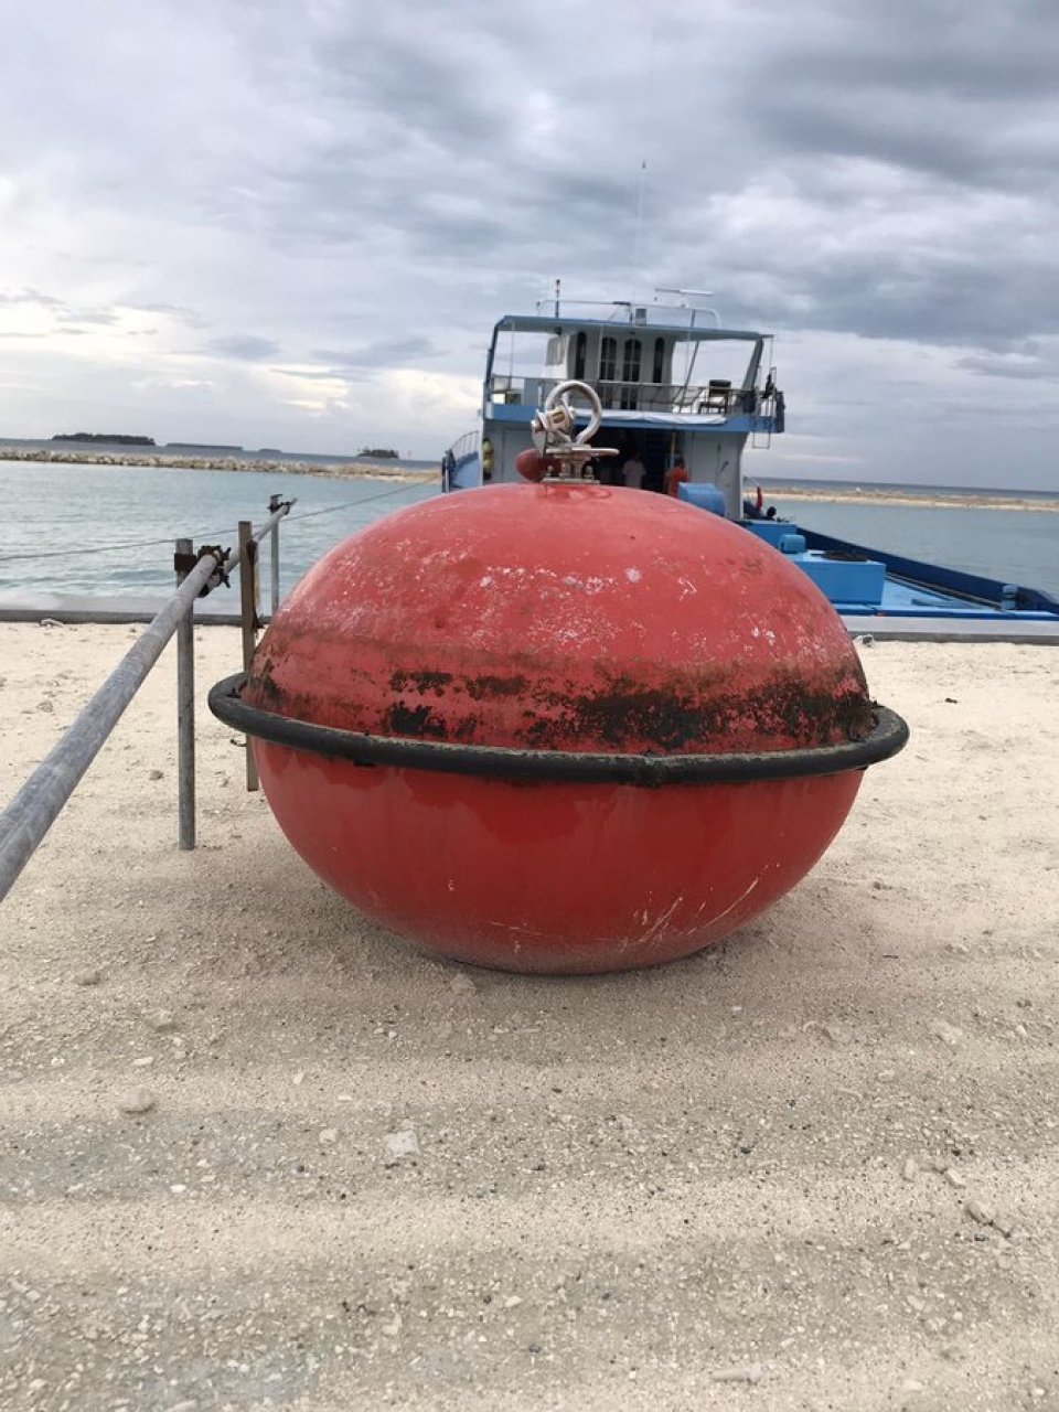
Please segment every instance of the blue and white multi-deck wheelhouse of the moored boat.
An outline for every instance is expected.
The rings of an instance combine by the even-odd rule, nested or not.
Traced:
[[[784,429],[771,336],[723,329],[716,311],[693,305],[570,304],[558,291],[549,304],[493,329],[481,429],[446,452],[442,489],[517,480],[532,418],[575,378],[600,400],[599,445],[618,450],[613,466],[600,462],[602,480],[621,483],[623,463],[634,459],[640,489],[664,490],[682,459],[688,480],[716,486],[727,517],[740,518],[747,441],[767,446]]]

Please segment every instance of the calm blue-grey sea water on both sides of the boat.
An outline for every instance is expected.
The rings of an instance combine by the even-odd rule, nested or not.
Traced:
[[[165,594],[174,585],[175,538],[234,545],[239,520],[260,524],[273,494],[298,501],[281,530],[287,593],[346,535],[431,498],[436,486],[281,472],[0,462],[0,602],[51,593]],[[799,498],[775,504],[785,518],[823,534],[1059,596],[1059,514]],[[267,562],[263,568],[267,575]]]

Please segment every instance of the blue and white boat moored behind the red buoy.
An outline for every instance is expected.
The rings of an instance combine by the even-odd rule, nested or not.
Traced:
[[[678,302],[662,302],[676,295]],[[566,381],[599,398],[597,443],[617,450],[594,466],[599,480],[671,493],[723,514],[771,544],[827,596],[853,631],[880,635],[1014,635],[1059,630],[1059,600],[1004,583],[819,534],[747,497],[743,453],[768,449],[786,426],[774,335],[722,325],[700,292],[657,291],[651,301],[566,299],[493,328],[480,426],[445,452],[446,494],[520,480],[532,424]],[[587,421],[587,412],[579,414]]]

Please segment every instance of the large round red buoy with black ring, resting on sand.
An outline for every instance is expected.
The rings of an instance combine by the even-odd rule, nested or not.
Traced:
[[[246,685],[302,857],[446,956],[606,971],[786,892],[901,748],[798,568],[674,500],[545,480],[398,511],[282,604]]]

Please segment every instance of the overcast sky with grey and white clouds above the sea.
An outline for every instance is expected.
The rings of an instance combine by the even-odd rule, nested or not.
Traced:
[[[0,435],[435,456],[559,275],[774,330],[764,474],[1059,489],[1055,0],[0,17]]]

